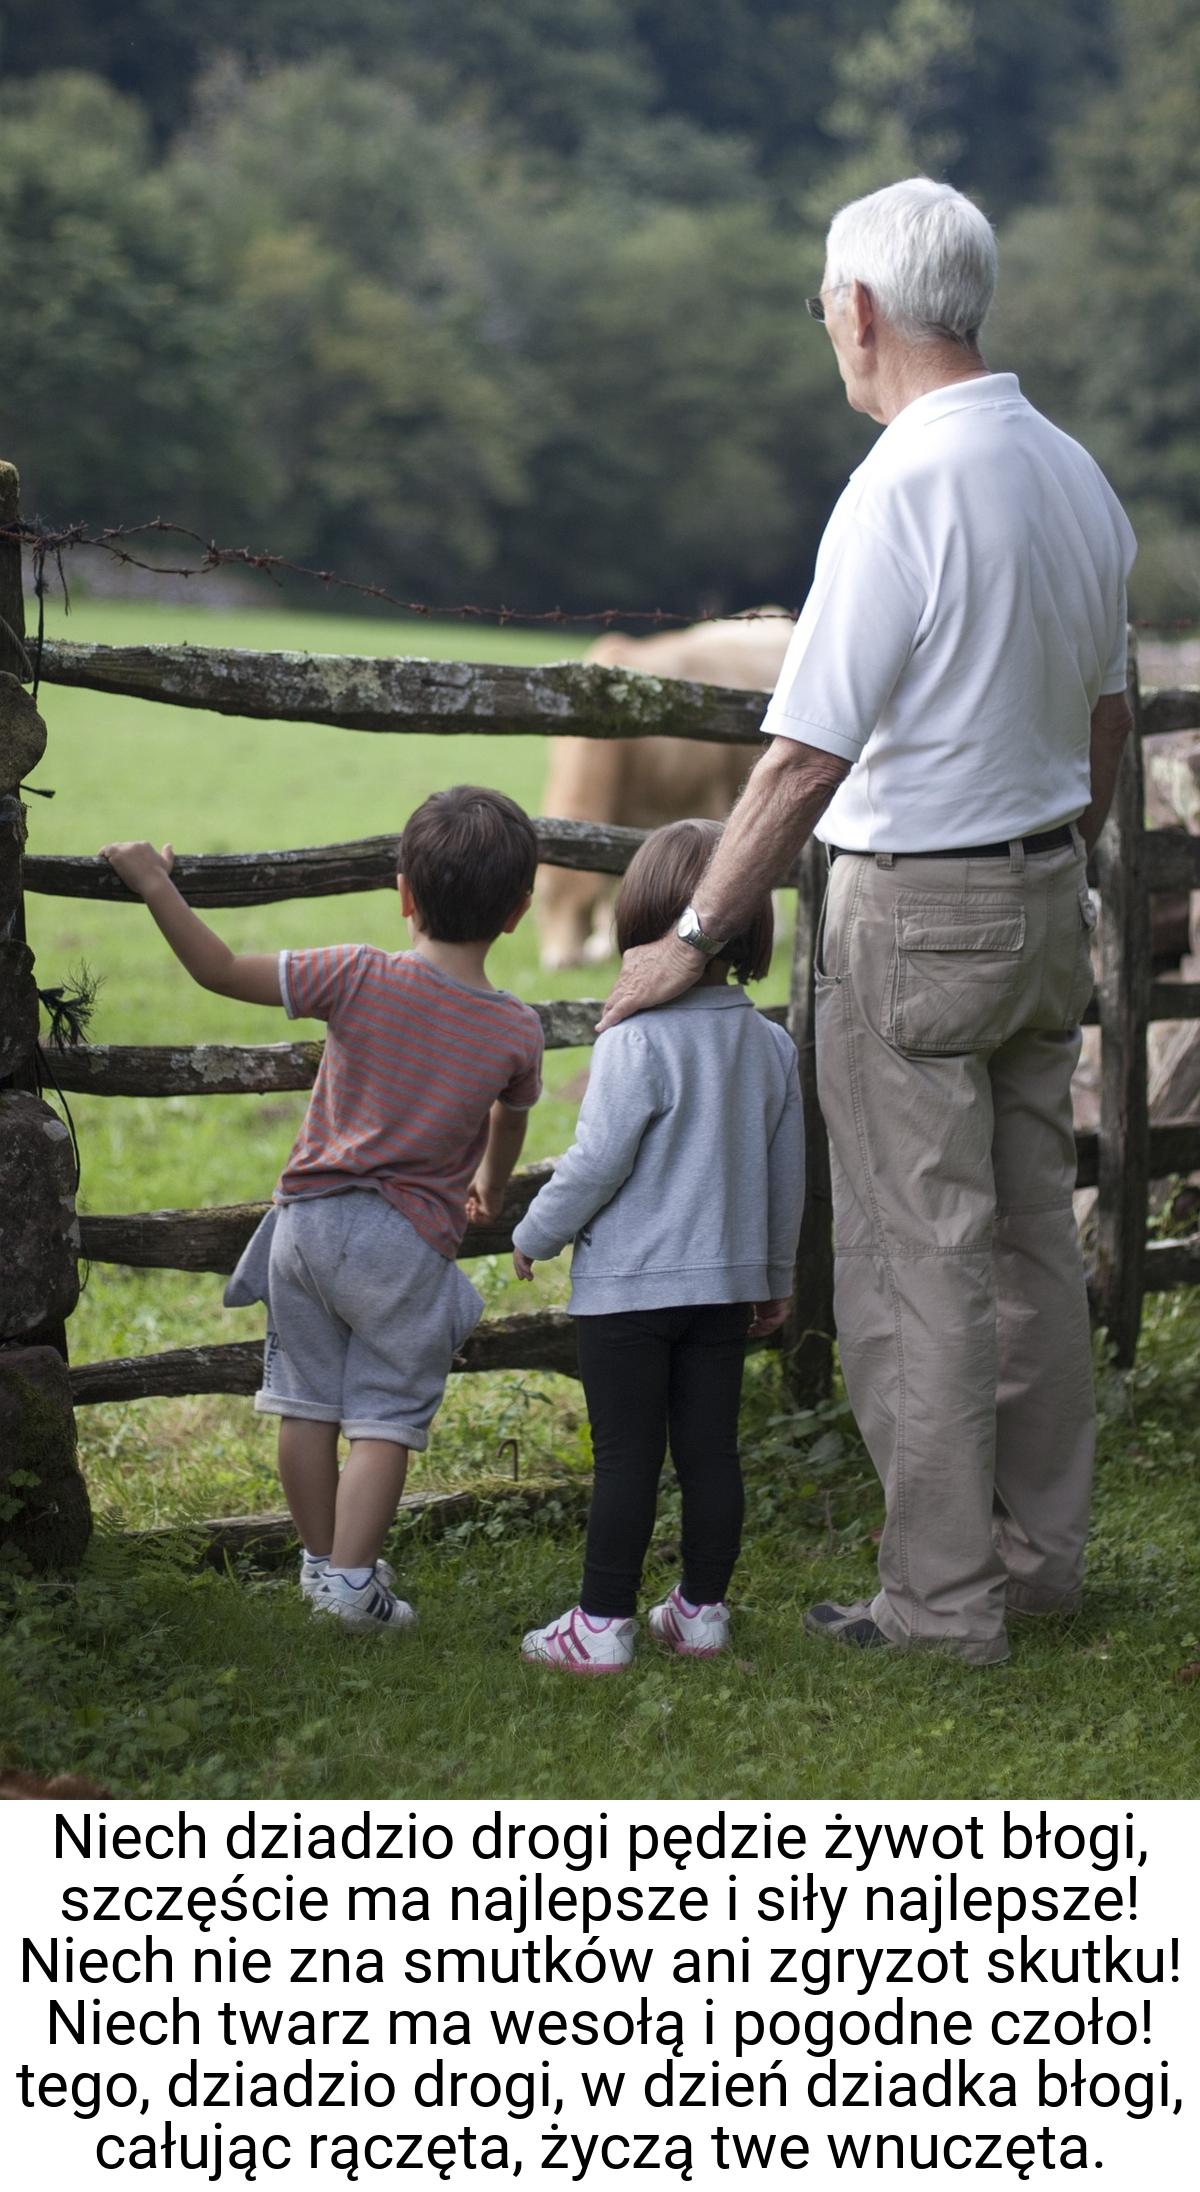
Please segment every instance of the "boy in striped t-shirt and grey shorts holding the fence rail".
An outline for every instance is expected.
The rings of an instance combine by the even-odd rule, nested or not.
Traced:
[[[235,954],[171,883],[171,846],[105,844],[103,857],[202,989],[327,1021],[305,1122],[226,1302],[268,1304],[254,1407],[281,1418],[301,1589],[320,1613],[397,1635],[417,1616],[380,1550],[408,1453],[428,1445],[452,1357],[483,1315],[454,1256],[467,1219],[498,1217],[542,1092],[542,1024],[485,973],[529,907],[533,824],[474,785],[426,800],[399,848],[412,949],[395,956]]]

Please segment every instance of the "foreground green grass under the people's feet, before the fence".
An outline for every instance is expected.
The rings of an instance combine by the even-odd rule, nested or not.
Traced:
[[[577,1683],[518,1659],[579,1574],[577,1416],[562,1515],[502,1506],[450,1541],[397,1532],[421,1609],[395,1644],[327,1633],[292,1576],[197,1569],[101,1537],[75,1585],[4,1587],[0,1727],[13,1760],[143,1797],[1187,1797],[1200,1651],[1196,1306],[1156,1304],[1139,1370],[1101,1374],[1103,1458],[1086,1611],[1014,1622],[1014,1659],[858,1655],[807,1640],[814,1596],[871,1587],[878,1495],[842,1412],[781,1416],[772,1363],[746,1409],[748,1539],[735,1651]],[[665,1493],[647,1594],[676,1574]],[[1189,1602],[1191,1600],[1191,1602]]]

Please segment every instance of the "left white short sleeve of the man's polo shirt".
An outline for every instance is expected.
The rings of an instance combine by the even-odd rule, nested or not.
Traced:
[[[836,511],[763,737],[801,739],[858,761],[913,653],[924,612],[919,572],[858,509]]]

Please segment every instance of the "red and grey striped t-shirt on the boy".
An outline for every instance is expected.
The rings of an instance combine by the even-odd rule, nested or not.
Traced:
[[[537,1013],[375,945],[281,951],[279,986],[327,1037],[276,1199],[373,1188],[454,1256],[491,1105],[527,1111],[542,1094]]]

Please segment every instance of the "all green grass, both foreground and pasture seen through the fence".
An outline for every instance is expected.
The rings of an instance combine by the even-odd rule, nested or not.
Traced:
[[[546,660],[562,640],[401,629],[268,612],[75,612],[72,638],[213,640],[320,651],[474,653]],[[399,829],[437,785],[500,783],[540,807],[540,741],[373,739],[235,723],[44,688],[50,750],[33,802],[33,850],[171,837],[178,850],[252,850]],[[101,978],[97,1041],[279,1039],[283,1015],[195,991],[138,907],[31,899],[42,984],[88,962]],[[237,910],[235,945],[401,943],[382,897]],[[781,967],[763,1002],[785,991]],[[599,995],[612,969],[537,971],[533,927],[496,954],[518,995]],[[305,1030],[309,1032],[309,1030]],[[586,1054],[548,1059],[529,1155],[570,1138]],[[303,1098],[75,1100],[86,1210],[224,1203],[270,1192]],[[476,1263],[489,1306],[516,1304],[505,1265]],[[566,1291],[566,1271],[542,1282]],[[522,1291],[520,1306],[529,1306]],[[72,1322],[77,1361],[250,1337],[219,1280],[94,1267]],[[551,1377],[452,1381],[421,1484],[487,1480],[516,1438],[522,1473],[555,1477],[537,1526],[500,1504],[423,1543],[397,1537],[421,1631],[401,1646],[314,1633],[290,1580],[197,1572],[186,1541],[136,1550],[118,1526],[279,1504],[272,1438],[226,1398],[81,1412],[101,1532],[77,1585],[11,1580],[0,1631],[0,1749],[44,1771],[86,1769],[140,1795],[1189,1795],[1198,1690],[1176,1681],[1200,1651],[1196,1425],[1200,1302],[1150,1306],[1132,1377],[1101,1363],[1103,1466],[1084,1616],[1018,1624],[992,1675],[946,1662],[860,1659],[801,1635],[814,1596],[871,1585],[880,1508],[842,1403],[785,1409],[774,1363],[746,1396],[748,1545],[737,1576],[737,1655],[711,1668],[649,1651],[616,1683],[564,1686],[516,1659],[531,1620],[575,1596],[588,1436],[579,1394]],[[511,1449],[505,1449],[511,1451]],[[667,1585],[678,1508],[665,1495],[647,1587]],[[463,1620],[467,1609],[469,1620]],[[579,1697],[579,1688],[586,1692]],[[597,1694],[599,1692],[599,1694]]]

